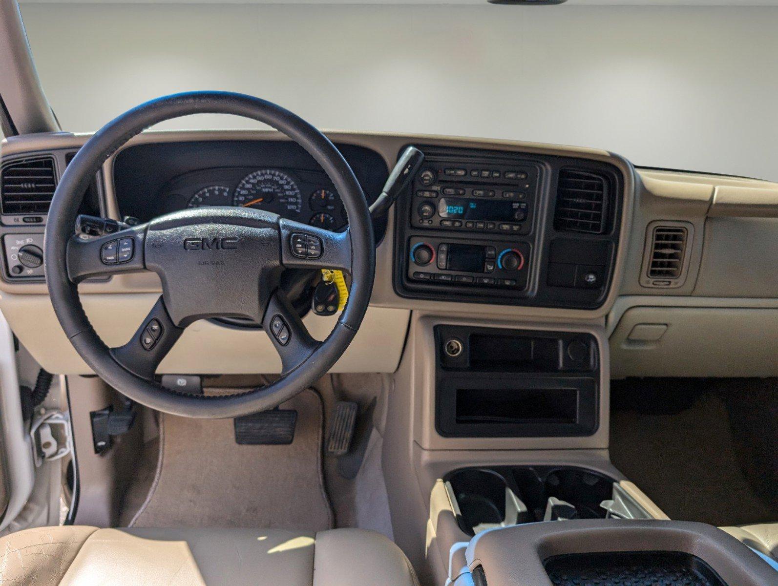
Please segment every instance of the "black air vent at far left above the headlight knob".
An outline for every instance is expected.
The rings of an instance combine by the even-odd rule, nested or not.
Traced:
[[[8,163],[0,177],[2,213],[44,214],[56,187],[54,159],[50,156]]]

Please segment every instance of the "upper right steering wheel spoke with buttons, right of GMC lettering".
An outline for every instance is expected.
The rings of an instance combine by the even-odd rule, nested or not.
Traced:
[[[286,268],[337,268],[351,271],[351,231],[330,232],[281,219],[281,261]]]

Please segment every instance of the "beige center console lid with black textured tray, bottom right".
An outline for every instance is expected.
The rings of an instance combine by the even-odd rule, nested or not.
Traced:
[[[769,586],[769,567],[738,539],[687,521],[581,520],[478,534],[454,586],[663,584]]]

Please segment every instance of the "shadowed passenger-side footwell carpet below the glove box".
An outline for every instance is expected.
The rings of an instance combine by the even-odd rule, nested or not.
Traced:
[[[672,519],[717,526],[778,521],[741,469],[716,385],[613,381],[611,460]]]

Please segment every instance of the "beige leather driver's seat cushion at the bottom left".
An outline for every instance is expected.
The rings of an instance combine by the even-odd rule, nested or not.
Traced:
[[[13,586],[417,586],[405,555],[361,529],[27,529],[0,539]]]

